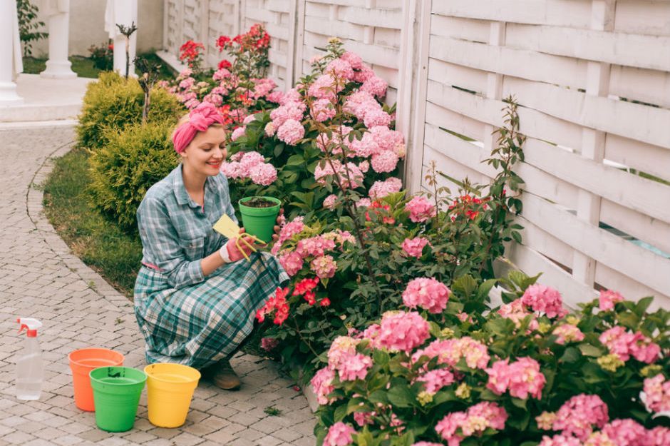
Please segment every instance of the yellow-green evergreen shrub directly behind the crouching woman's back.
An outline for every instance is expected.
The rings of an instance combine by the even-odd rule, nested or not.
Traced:
[[[163,179],[178,158],[172,148],[172,121],[108,128],[103,148],[91,153],[91,203],[125,230],[137,227],[135,212],[148,188]]]

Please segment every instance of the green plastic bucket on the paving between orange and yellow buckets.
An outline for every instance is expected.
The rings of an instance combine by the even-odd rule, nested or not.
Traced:
[[[129,367],[100,367],[91,370],[91,387],[96,405],[96,424],[108,432],[133,428],[145,372]]]

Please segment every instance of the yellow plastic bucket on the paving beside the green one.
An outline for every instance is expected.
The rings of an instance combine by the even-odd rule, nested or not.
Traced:
[[[147,374],[149,421],[158,427],[180,427],[186,421],[200,372],[181,364],[156,363]]]

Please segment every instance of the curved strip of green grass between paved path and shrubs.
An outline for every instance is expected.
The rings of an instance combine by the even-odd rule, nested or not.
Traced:
[[[89,205],[88,153],[73,149],[56,160],[44,186],[44,208],[58,235],[83,263],[128,298],[142,258],[137,233],[120,230]]]

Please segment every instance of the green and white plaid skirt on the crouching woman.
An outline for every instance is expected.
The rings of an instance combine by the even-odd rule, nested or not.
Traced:
[[[143,266],[135,281],[135,315],[147,362],[201,369],[227,358],[251,333],[256,311],[287,280],[268,253],[223,265],[205,281],[178,290],[165,274]]]

